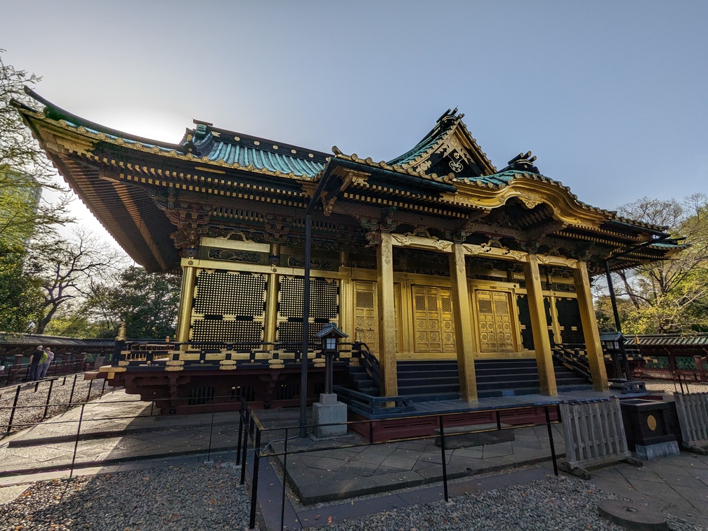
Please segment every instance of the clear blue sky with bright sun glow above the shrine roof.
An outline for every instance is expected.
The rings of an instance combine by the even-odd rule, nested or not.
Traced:
[[[530,150],[592,205],[708,193],[706,1],[3,4],[8,64],[137,135],[388,160],[458,106],[499,169]]]

